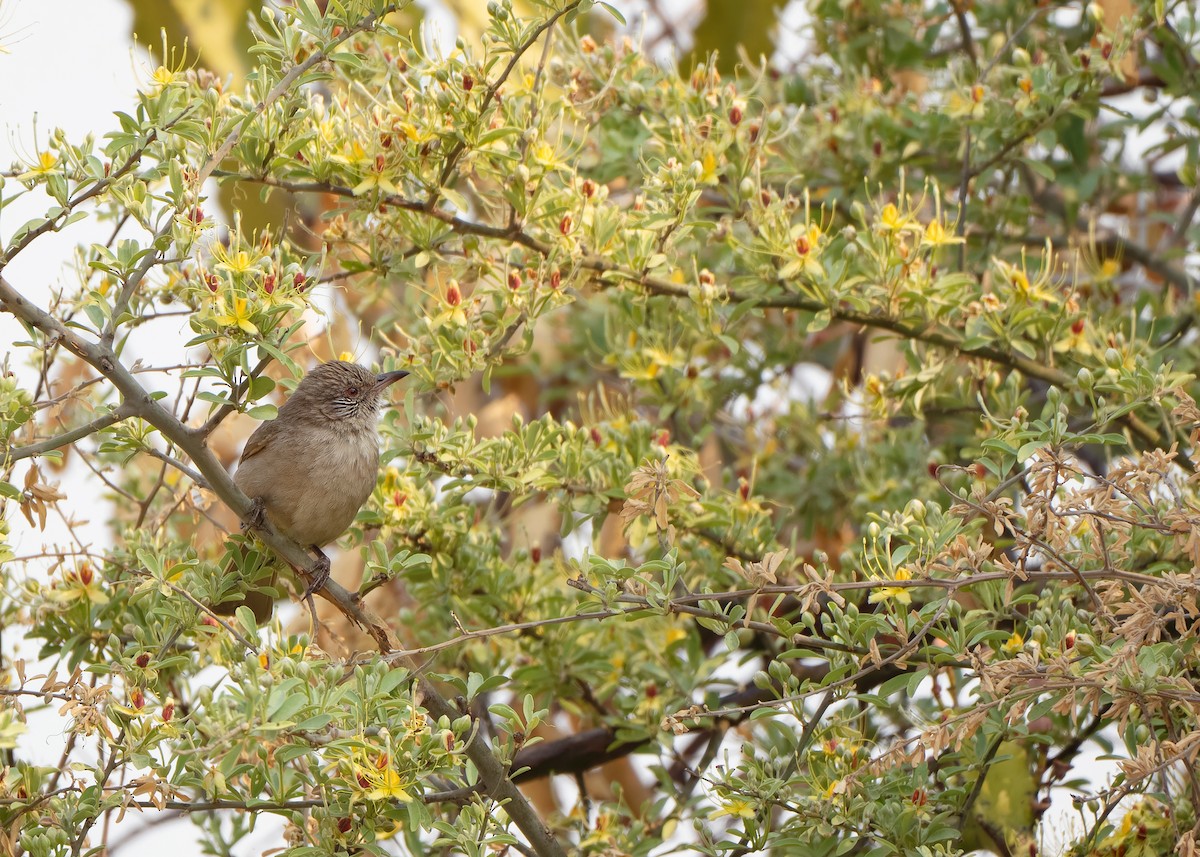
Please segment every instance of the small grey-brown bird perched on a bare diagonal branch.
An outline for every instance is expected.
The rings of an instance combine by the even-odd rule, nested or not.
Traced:
[[[251,499],[246,526],[262,528],[265,517],[316,555],[305,598],[329,580],[322,549],[346,532],[374,490],[380,402],[408,374],[377,374],[344,360],[320,364],[246,441],[233,477]]]

